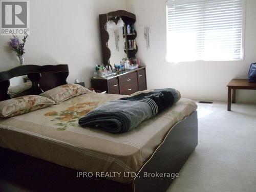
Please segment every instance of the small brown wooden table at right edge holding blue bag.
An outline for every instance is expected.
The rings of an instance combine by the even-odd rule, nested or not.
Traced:
[[[256,82],[248,82],[248,79],[232,79],[228,85],[227,111],[231,111],[231,95],[232,103],[236,103],[236,90],[256,90]]]

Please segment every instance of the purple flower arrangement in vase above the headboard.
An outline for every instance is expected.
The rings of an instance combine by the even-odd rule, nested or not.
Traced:
[[[15,35],[13,35],[10,41],[8,41],[8,45],[11,47],[13,51],[16,52],[19,65],[25,65],[23,55],[25,53],[24,46],[25,46],[27,37],[28,35],[24,36],[24,38],[22,39],[22,43],[20,43],[19,38]]]

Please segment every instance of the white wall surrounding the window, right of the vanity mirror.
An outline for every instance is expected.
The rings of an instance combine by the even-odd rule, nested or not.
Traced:
[[[147,66],[148,88],[172,87],[183,97],[226,100],[226,85],[232,78],[247,78],[249,65],[256,62],[256,1],[246,1],[245,52],[243,61],[202,61],[171,64],[165,61],[165,0],[127,0],[127,11],[136,14],[137,56]],[[144,26],[151,27],[150,50],[146,50]],[[184,55],[185,57],[186,55]],[[256,91],[238,91],[240,102],[256,102]]]

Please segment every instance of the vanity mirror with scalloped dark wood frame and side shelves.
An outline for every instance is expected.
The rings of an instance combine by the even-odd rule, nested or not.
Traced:
[[[103,64],[119,65],[123,58],[135,58],[138,51],[133,13],[118,10],[99,15]]]

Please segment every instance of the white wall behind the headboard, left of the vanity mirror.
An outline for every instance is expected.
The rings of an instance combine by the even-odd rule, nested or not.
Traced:
[[[31,35],[25,45],[25,62],[34,65],[68,63],[68,81],[84,80],[90,86],[95,65],[102,63],[98,15],[125,9],[125,0],[31,0]],[[17,66],[0,36],[0,71]]]

